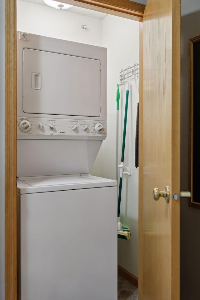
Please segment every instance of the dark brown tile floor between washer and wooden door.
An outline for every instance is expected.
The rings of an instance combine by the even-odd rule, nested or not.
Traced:
[[[118,300],[138,299],[138,287],[118,274]]]

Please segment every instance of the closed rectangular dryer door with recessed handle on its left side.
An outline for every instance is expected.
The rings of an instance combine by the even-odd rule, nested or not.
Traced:
[[[100,116],[100,61],[23,50],[23,111]]]

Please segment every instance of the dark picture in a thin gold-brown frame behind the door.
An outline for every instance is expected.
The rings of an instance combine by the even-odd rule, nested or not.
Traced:
[[[190,39],[191,97],[191,198],[190,205],[200,208],[200,35]]]

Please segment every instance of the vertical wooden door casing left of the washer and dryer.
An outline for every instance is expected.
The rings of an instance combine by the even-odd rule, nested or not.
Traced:
[[[5,299],[17,299],[16,0],[5,0]]]

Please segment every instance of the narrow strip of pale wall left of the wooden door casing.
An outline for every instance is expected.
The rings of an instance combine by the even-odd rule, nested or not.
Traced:
[[[5,1],[0,1],[0,299],[5,299]]]

